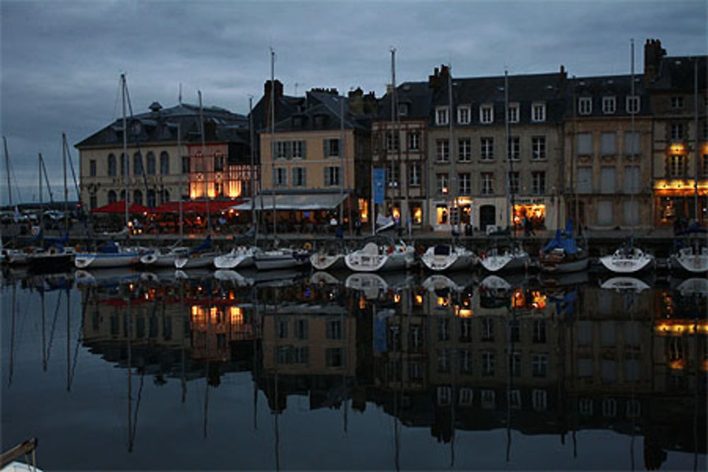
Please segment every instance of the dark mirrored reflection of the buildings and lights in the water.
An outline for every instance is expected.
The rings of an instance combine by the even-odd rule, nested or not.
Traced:
[[[254,405],[260,391],[276,430],[290,396],[341,410],[345,431],[350,409],[383,408],[396,467],[405,427],[429,428],[453,465],[456,431],[497,429],[507,459],[512,430],[557,434],[574,450],[576,432],[613,430],[646,468],[666,451],[705,454],[706,294],[375,277],[79,283],[83,343],[156,384],[205,379],[205,434],[208,389],[251,372]],[[280,466],[278,444],[275,454]]]

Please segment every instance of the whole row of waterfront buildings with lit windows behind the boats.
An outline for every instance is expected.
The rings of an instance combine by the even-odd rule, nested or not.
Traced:
[[[81,200],[95,208],[126,189],[151,207],[253,197],[258,209],[302,207],[278,216],[291,224],[329,218],[343,201],[344,219],[367,224],[372,173],[385,169],[376,212],[414,229],[506,227],[510,191],[515,221],[547,229],[573,215],[590,229],[695,215],[705,225],[706,64],[647,40],[634,76],[576,78],[561,66],[510,75],[506,87],[504,76],[455,77],[443,66],[381,98],[360,88],[287,96],[266,81],[249,116],[153,103],[127,129],[117,120],[76,144]]]

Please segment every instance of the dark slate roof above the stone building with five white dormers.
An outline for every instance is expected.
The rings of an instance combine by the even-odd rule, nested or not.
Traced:
[[[509,103],[518,103],[519,123],[531,122],[531,106],[535,102],[546,104],[544,122],[562,122],[565,112],[565,74],[510,75]],[[434,110],[436,106],[450,103],[447,91],[447,79],[442,80],[440,88],[433,91],[430,125],[435,126]],[[504,123],[504,76],[455,78],[452,77],[452,100],[455,109],[460,105],[471,105],[472,120],[469,125],[479,125],[479,105],[491,103],[494,107],[494,124]],[[453,115],[455,116],[455,115]]]

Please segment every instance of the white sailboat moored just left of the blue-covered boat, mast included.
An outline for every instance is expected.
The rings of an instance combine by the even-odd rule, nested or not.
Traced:
[[[508,71],[504,71],[504,117],[506,126],[506,142],[509,142],[509,74]],[[507,154],[508,148],[507,148]],[[508,175],[513,171],[513,163],[510,156],[507,157],[507,162],[509,166]],[[513,211],[514,211],[514,190],[511,186],[509,177],[507,177],[508,197],[509,197],[509,220],[510,224],[514,224]],[[515,228],[512,228],[513,234],[515,234]],[[487,272],[509,272],[512,270],[520,270],[528,267],[530,263],[529,255],[520,244],[515,243],[512,237],[511,246],[505,251],[500,251],[498,248],[492,248],[491,251],[479,254],[479,264]]]

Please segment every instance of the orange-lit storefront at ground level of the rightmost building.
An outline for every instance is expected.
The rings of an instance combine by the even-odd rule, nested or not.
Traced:
[[[671,226],[677,218],[692,220],[696,209],[695,180],[656,180],[654,182],[654,224]],[[698,219],[708,222],[708,181],[698,183]]]

